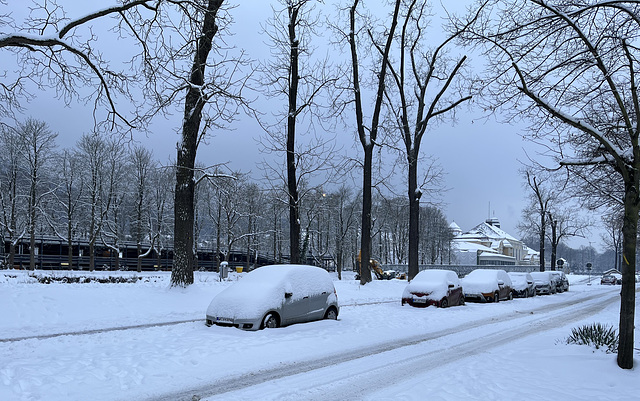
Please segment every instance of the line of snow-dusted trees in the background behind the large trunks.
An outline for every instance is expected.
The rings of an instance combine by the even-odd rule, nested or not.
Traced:
[[[53,238],[89,243],[91,268],[97,246],[118,256],[125,242],[138,256],[173,246],[173,166],[163,165],[142,146],[130,146],[111,135],[89,133],[72,148],[58,149],[57,134],[45,122],[28,119],[0,132],[0,227],[12,244],[5,266],[13,266],[15,244],[29,239],[36,268],[35,242]],[[248,174],[217,167],[213,174],[197,169],[195,196],[196,249],[228,259],[231,250],[245,253],[247,267],[257,254],[288,262],[289,224],[285,188],[255,182]],[[361,194],[347,185],[305,189],[300,202],[305,261],[352,269],[360,252]],[[373,199],[373,257],[385,264],[408,260],[407,200],[377,194]],[[420,263],[451,262],[452,234],[443,212],[423,206]],[[68,255],[69,266],[71,252]],[[196,262],[197,263],[197,262]],[[140,269],[138,263],[138,269]]]

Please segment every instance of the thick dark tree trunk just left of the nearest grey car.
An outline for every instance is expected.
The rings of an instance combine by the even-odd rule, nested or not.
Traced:
[[[174,201],[174,242],[171,285],[185,287],[193,284],[194,266],[194,167],[202,120],[202,108],[206,98],[202,93],[207,57],[211,51],[213,37],[218,31],[216,14],[223,0],[209,0],[198,39],[196,53],[189,77],[189,89],[185,99],[182,141],[178,147],[176,168],[176,192]]]

